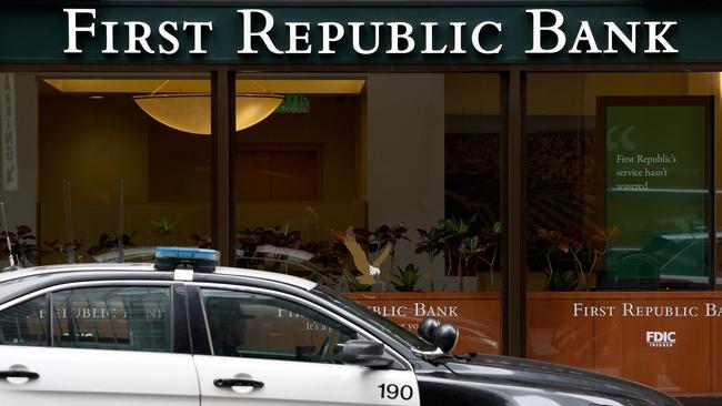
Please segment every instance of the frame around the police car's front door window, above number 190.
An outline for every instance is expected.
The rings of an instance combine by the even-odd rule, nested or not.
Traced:
[[[261,295],[267,295],[267,296],[270,296],[270,297],[273,297],[273,298],[292,302],[292,303],[294,303],[294,304],[297,304],[299,306],[302,306],[302,307],[309,308],[310,311],[317,312],[317,313],[319,313],[319,314],[334,321],[335,323],[339,323],[340,325],[353,331],[354,333],[357,333],[359,335],[359,339],[368,339],[368,341],[373,341],[373,342],[383,344],[384,352],[395,361],[394,364],[391,366],[391,368],[393,368],[393,369],[403,369],[403,371],[413,371],[413,367],[411,366],[411,363],[409,363],[409,361],[407,358],[401,356],[401,354],[399,354],[394,348],[387,345],[383,341],[379,339],[375,335],[369,333],[367,329],[361,328],[357,324],[353,324],[353,323],[349,322],[348,319],[341,317],[339,314],[337,314],[337,313],[334,313],[334,312],[332,312],[332,311],[330,311],[330,309],[328,309],[328,308],[325,308],[323,306],[320,306],[317,303],[308,301],[308,300],[305,300],[303,297],[300,297],[300,296],[297,296],[297,295],[293,295],[293,294],[289,294],[289,293],[285,293],[285,292],[273,291],[273,290],[270,290],[270,288],[255,287],[255,286],[245,286],[245,285],[228,285],[228,284],[204,283],[204,282],[193,282],[193,283],[189,283],[188,285],[193,286],[198,292],[197,296],[198,296],[199,301],[194,305],[200,306],[198,312],[200,312],[200,315],[202,316],[201,323],[203,324],[203,327],[205,329],[207,339],[208,339],[208,343],[209,343],[209,346],[210,346],[210,352],[209,352],[208,355],[215,356],[215,354],[213,353],[213,346],[210,344],[211,343],[211,333],[210,333],[210,327],[209,327],[209,323],[208,323],[208,316],[205,314],[205,307],[203,305],[203,301],[202,301],[202,296],[201,296],[201,290],[203,290],[203,288],[215,290],[215,291],[219,291],[219,290],[220,291],[235,291],[235,292],[242,292],[242,293],[261,294]],[[191,294],[191,295],[193,295],[193,294]],[[192,314],[193,312],[194,312],[194,309],[189,309],[189,313]],[[262,359],[262,358],[245,357],[244,359]],[[279,361],[282,361],[282,359],[279,359]],[[299,361],[287,361],[287,362],[299,362]],[[334,364],[328,364],[328,365],[334,365]],[[344,365],[344,364],[340,364],[340,365]]]

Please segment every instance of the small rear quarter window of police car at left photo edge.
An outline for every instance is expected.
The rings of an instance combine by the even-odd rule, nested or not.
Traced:
[[[44,346],[48,342],[46,296],[0,312],[0,345]]]

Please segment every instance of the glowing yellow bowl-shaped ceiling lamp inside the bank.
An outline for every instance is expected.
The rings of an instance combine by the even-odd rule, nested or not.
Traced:
[[[168,81],[166,81],[167,83]],[[166,84],[163,83],[163,84]],[[207,93],[136,95],[136,103],[153,120],[172,129],[193,134],[211,133],[211,97]],[[283,101],[270,93],[235,95],[235,131],[241,131],[268,118]]]

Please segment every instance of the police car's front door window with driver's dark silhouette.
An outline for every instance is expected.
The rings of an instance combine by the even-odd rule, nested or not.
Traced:
[[[222,356],[341,364],[347,326],[273,296],[203,290],[213,353]]]

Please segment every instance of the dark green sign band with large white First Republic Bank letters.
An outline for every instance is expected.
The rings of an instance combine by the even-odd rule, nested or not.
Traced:
[[[0,13],[0,63],[722,61],[722,4],[680,7],[18,6]]]

